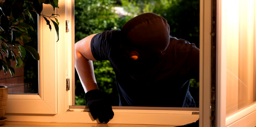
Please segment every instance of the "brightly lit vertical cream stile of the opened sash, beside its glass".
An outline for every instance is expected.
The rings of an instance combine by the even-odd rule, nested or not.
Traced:
[[[217,0],[217,127],[225,127],[226,122],[226,83],[227,83],[227,44],[226,42],[226,29],[222,29],[226,22],[222,22],[226,18],[225,6],[222,6],[222,1]]]

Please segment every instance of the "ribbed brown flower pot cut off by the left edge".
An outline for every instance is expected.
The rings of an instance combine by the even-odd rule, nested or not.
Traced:
[[[8,87],[0,86],[0,118],[4,117],[7,107]]]

